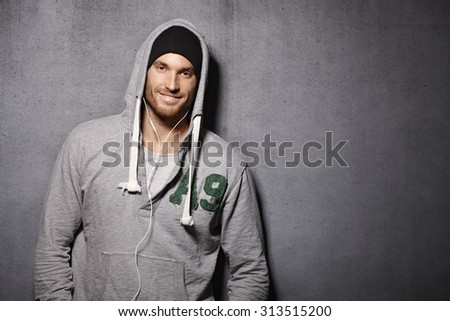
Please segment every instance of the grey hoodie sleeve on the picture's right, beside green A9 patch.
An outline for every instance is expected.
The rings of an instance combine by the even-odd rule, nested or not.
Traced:
[[[266,300],[269,275],[253,181],[245,168],[225,200],[221,245],[229,260],[230,300]]]

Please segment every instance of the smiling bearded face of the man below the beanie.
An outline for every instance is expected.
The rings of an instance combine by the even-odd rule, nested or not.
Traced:
[[[192,105],[197,87],[194,66],[185,57],[167,53],[147,70],[145,99],[162,122],[178,121]]]

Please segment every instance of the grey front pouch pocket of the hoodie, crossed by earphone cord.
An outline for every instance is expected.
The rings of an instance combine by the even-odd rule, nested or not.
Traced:
[[[131,300],[139,287],[134,254],[103,252],[102,260],[106,277],[100,300]],[[142,284],[138,300],[188,300],[183,262],[139,254],[138,266]]]

